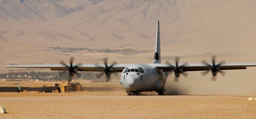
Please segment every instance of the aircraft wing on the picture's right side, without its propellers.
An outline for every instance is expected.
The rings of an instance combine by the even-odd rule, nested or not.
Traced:
[[[169,72],[172,70],[170,65],[175,66],[176,64],[154,64],[159,70],[163,72]],[[179,64],[179,66],[182,64]],[[246,67],[256,67],[256,63],[227,63],[221,64],[220,70],[244,70]],[[186,64],[183,67],[183,72],[187,71],[206,71],[209,70],[209,66],[201,63]]]

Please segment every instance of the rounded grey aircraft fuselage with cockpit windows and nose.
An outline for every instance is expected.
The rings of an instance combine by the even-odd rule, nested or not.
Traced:
[[[120,83],[126,91],[160,91],[163,88],[163,76],[160,70],[147,64],[134,64],[122,71]]]

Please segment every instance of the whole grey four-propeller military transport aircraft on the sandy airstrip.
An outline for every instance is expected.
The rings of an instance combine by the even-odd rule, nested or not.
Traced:
[[[160,53],[160,28],[159,21],[157,22],[157,34],[154,52],[154,61],[151,64],[73,64],[73,58],[70,60],[70,65],[61,61],[61,64],[52,65],[7,65],[6,67],[18,68],[50,68],[51,70],[68,71],[70,76],[79,74],[78,71],[96,71],[105,73],[107,78],[110,78],[112,73],[121,72],[120,84],[125,89],[129,96],[138,95],[140,92],[155,91],[158,95],[163,95],[166,91],[165,84],[169,73],[175,73],[175,81],[181,74],[187,76],[187,71],[204,71],[203,75],[212,72],[213,77],[217,73],[225,75],[221,70],[241,70],[246,67],[256,67],[256,63],[233,63],[226,64],[221,62],[215,64],[215,57],[212,57],[212,64],[206,61],[197,64],[179,64],[176,58],[175,64],[161,63]]]

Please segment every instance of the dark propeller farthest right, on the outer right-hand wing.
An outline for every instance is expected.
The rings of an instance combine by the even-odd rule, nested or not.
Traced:
[[[212,55],[212,65],[207,63],[207,61],[203,60],[202,64],[205,64],[209,67],[209,69],[207,71],[201,72],[202,75],[206,75],[207,73],[209,73],[209,71],[212,72],[212,80],[215,81],[215,76],[217,76],[218,73],[221,73],[221,75],[225,75],[226,73],[224,71],[220,70],[220,67],[222,64],[225,64],[225,61],[221,61],[218,64],[215,64],[215,59],[216,59],[216,55]]]

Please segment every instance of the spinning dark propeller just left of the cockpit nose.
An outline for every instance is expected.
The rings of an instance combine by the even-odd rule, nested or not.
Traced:
[[[97,67],[102,67],[104,68],[103,72],[100,73],[97,78],[100,78],[102,77],[103,74],[106,75],[106,78],[107,78],[107,82],[110,80],[110,77],[111,77],[111,74],[114,73],[114,69],[113,69],[113,66],[117,63],[116,61],[114,61],[110,66],[108,65],[108,58],[103,58],[103,61],[104,61],[104,64],[105,64],[105,67],[102,67],[102,65],[99,65],[99,64],[96,64]]]

